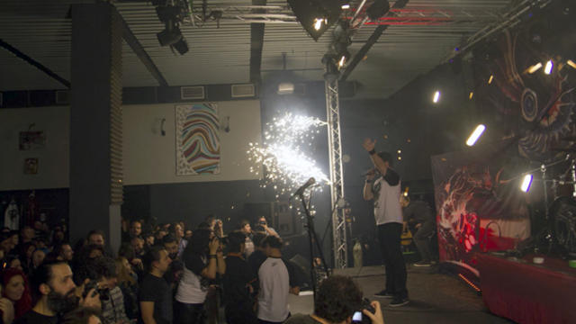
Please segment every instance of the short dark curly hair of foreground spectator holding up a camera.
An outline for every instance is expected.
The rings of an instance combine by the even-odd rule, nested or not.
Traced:
[[[339,323],[362,308],[362,291],[351,277],[330,275],[318,289],[314,302],[314,315]]]

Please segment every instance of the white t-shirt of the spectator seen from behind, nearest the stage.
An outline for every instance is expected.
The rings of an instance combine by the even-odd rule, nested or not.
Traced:
[[[260,293],[258,319],[282,322],[290,314],[288,293],[293,284],[293,269],[280,257],[268,257],[258,269]],[[292,279],[292,280],[291,280]]]

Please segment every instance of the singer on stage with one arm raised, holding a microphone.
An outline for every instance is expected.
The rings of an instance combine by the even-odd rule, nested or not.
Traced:
[[[375,166],[368,172],[364,185],[364,199],[374,200],[374,219],[386,267],[386,287],[374,296],[392,298],[391,307],[406,305],[406,264],[401,251],[402,209],[400,204],[400,175],[392,169],[392,156],[388,152],[376,153],[374,139],[365,139],[363,146]]]

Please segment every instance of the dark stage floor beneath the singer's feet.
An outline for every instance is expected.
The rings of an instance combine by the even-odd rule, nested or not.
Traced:
[[[338,275],[350,275],[360,284],[365,297],[380,301],[384,321],[393,323],[513,323],[492,315],[478,296],[464,282],[451,275],[437,273],[436,267],[408,267],[410,303],[400,308],[386,307],[389,299],[374,298],[383,289],[383,266],[365,266],[339,270]],[[312,296],[290,295],[292,313],[310,314]]]

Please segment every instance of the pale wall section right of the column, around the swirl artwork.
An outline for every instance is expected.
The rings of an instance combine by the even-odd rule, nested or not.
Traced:
[[[181,103],[123,106],[124,184],[165,184],[258,179],[250,173],[249,142],[260,142],[260,102],[219,102],[220,121],[229,116],[230,131],[220,131],[220,174],[176,175],[175,106]],[[160,121],[166,118],[160,134]]]

